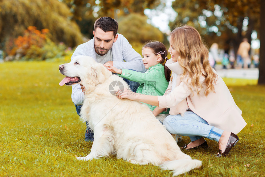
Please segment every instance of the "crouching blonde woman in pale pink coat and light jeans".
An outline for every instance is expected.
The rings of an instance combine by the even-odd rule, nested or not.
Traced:
[[[170,133],[190,137],[190,144],[182,148],[207,147],[206,137],[219,143],[216,157],[225,157],[239,141],[236,134],[247,124],[242,111],[210,66],[209,52],[194,27],[175,28],[169,43],[171,59],[165,65],[173,72],[173,84],[168,88],[171,93],[149,96],[127,90],[117,97],[159,106],[157,112],[170,108],[163,124]]]

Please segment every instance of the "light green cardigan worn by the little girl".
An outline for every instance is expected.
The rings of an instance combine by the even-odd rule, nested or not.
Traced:
[[[160,63],[149,67],[145,73],[140,73],[137,71],[121,69],[122,73],[118,76],[126,78],[131,81],[139,82],[140,86],[138,87],[136,93],[141,93],[145,95],[164,95],[165,90],[168,87],[169,82],[165,78],[164,66]],[[146,103],[144,103],[146,104]],[[146,104],[151,111],[154,110],[156,106]],[[161,112],[163,114],[168,114],[167,112]]]

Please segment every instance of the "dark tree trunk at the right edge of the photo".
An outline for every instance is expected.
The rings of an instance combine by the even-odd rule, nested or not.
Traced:
[[[265,84],[265,1],[260,1],[260,48],[259,48],[259,80],[258,84]]]

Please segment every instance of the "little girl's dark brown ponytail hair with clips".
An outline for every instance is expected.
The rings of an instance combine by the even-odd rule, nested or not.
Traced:
[[[159,63],[161,63],[164,66],[165,69],[165,78],[169,82],[170,80],[170,74],[171,70],[165,66],[165,62],[168,60],[167,58],[167,49],[165,45],[159,41],[149,41],[146,43],[143,48],[150,48],[153,53],[157,56],[158,54],[161,55],[161,60]]]

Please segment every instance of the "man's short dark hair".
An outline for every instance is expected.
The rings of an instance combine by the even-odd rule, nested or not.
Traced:
[[[116,36],[119,25],[118,25],[118,22],[115,19],[112,19],[111,17],[100,17],[94,23],[95,31],[97,27],[102,29],[104,32],[112,31],[114,36]]]

